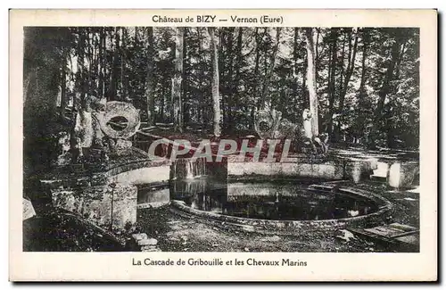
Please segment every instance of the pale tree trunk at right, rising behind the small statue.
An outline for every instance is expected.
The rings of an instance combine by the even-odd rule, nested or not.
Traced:
[[[308,70],[307,70],[307,85],[310,95],[310,112],[311,112],[311,133],[313,136],[319,135],[318,125],[318,95],[316,94],[316,68],[315,68],[315,41],[314,29],[305,29],[305,35],[307,37],[307,58],[308,58]]]

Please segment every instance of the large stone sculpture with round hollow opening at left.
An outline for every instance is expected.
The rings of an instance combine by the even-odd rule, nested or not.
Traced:
[[[84,102],[76,112],[71,132],[60,134],[57,165],[101,164],[109,160],[110,154],[120,155],[131,147],[127,139],[135,135],[140,126],[139,111],[132,104],[106,102],[105,98],[94,95],[88,95]],[[125,118],[127,126],[113,123],[117,117]]]

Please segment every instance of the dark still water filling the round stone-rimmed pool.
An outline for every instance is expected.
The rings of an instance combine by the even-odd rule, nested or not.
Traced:
[[[180,200],[200,211],[261,220],[332,220],[366,215],[378,205],[362,195],[309,188],[296,182],[227,182],[209,179],[174,181],[166,188],[140,193]]]

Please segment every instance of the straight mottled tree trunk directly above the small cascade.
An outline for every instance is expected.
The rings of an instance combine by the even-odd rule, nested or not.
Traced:
[[[175,76],[172,79],[172,116],[175,131],[183,132],[183,105],[181,100],[181,81],[183,79],[183,41],[184,28],[177,28],[175,41]]]

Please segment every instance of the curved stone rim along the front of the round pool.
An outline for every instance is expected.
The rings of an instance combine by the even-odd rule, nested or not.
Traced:
[[[351,187],[341,187],[338,188],[338,190],[339,189],[345,190],[350,194],[353,193],[351,191]],[[379,207],[379,210],[359,217],[336,220],[258,220],[226,216],[209,211],[195,210],[187,206],[186,203],[178,200],[172,200],[170,205],[174,210],[177,210],[180,213],[186,213],[201,218],[204,221],[219,221],[227,224],[229,227],[240,228],[249,232],[285,232],[287,235],[299,234],[303,231],[335,230],[347,227],[360,228],[369,224],[378,224],[382,223],[393,210],[392,203],[381,196],[357,188],[354,188],[354,194],[368,197],[374,202],[380,203],[381,206]]]

